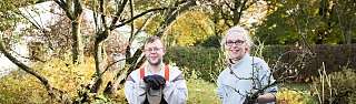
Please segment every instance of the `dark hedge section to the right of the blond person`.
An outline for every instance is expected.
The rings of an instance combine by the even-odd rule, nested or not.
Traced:
[[[355,44],[317,44],[308,48],[298,48],[293,45],[268,45],[264,51],[264,58],[274,66],[278,58],[280,64],[276,67],[285,71],[286,69],[294,70],[298,73],[297,82],[310,81],[310,76],[318,76],[318,70],[323,62],[328,67],[326,73],[340,71],[342,66],[356,67],[356,55],[353,50],[356,50]],[[312,53],[309,53],[312,52]],[[280,75],[277,72],[276,75]]]

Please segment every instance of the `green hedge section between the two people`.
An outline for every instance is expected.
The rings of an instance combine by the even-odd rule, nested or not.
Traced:
[[[219,65],[219,50],[215,48],[170,48],[165,55],[168,62],[175,62],[184,70],[186,76],[196,71],[198,77],[206,81],[214,81],[221,71]],[[188,70],[189,69],[189,70]]]

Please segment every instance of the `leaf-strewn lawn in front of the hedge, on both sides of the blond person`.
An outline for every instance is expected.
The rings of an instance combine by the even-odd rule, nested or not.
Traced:
[[[216,84],[199,79],[189,79],[188,104],[220,104],[216,95]],[[315,104],[317,100],[310,95],[308,83],[281,83],[278,85],[279,104]],[[283,103],[284,102],[284,103]]]

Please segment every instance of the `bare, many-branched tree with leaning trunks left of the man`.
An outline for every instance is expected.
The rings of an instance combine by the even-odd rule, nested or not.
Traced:
[[[80,51],[82,46],[81,44],[81,34],[80,34],[80,21],[82,19],[82,2],[80,0],[55,0],[55,2],[66,12],[66,17],[69,18],[71,21],[71,31],[72,31],[72,55],[73,55],[73,63],[79,62],[81,60],[81,56],[78,56],[79,54],[82,54]],[[115,0],[115,1],[105,1],[105,0],[93,0],[88,1],[92,6],[89,6],[93,10],[93,18],[96,21],[96,29],[95,30],[95,61],[96,61],[96,74],[93,75],[93,80],[88,85],[85,85],[85,87],[90,91],[80,91],[80,93],[83,93],[79,95],[78,97],[90,97],[87,96],[89,93],[99,93],[99,94],[112,94],[120,84],[122,84],[125,79],[127,77],[128,73],[137,69],[139,63],[142,61],[141,59],[141,51],[137,51],[134,53],[134,56],[130,54],[130,48],[131,42],[137,35],[138,32],[140,32],[141,28],[138,28],[138,30],[134,31],[134,22],[135,20],[139,18],[146,18],[149,19],[150,17],[146,17],[147,14],[161,14],[164,21],[159,23],[158,30],[156,30],[155,35],[162,37],[165,34],[165,31],[170,28],[171,23],[175,22],[175,20],[178,18],[178,15],[187,10],[189,10],[190,7],[196,6],[196,2],[194,0],[185,0],[185,1],[169,1],[169,6],[160,6],[155,7],[151,9],[146,9],[142,11],[139,11],[140,13],[135,13],[134,8],[134,0]],[[86,3],[88,3],[86,1]],[[168,2],[168,1],[167,1]],[[18,7],[13,7],[13,9],[18,9]],[[160,12],[158,12],[160,11]],[[113,12],[113,13],[111,13]],[[36,24],[36,23],[32,23]],[[109,72],[108,69],[115,64],[113,63],[105,63],[103,62],[103,52],[102,52],[102,42],[109,37],[112,35],[112,31],[117,28],[120,28],[122,25],[131,24],[131,34],[129,38],[129,44],[126,45],[126,67],[128,69],[117,69],[113,72],[113,76],[111,79],[105,79],[103,75],[107,75]],[[144,24],[145,25],[145,24]],[[38,28],[40,31],[42,31],[40,28]],[[57,102],[72,102],[70,100],[76,98],[68,98],[65,93],[58,87],[51,86],[51,84],[48,82],[48,80],[41,75],[41,73],[36,72],[30,66],[24,65],[22,62],[14,59],[10,53],[8,53],[8,50],[3,46],[3,39],[1,39],[0,44],[0,51],[6,54],[8,59],[10,59],[13,63],[16,63],[21,70],[26,71],[27,73],[36,76],[41,81],[43,86],[48,90],[48,93],[51,95],[51,97],[56,98]],[[77,56],[75,56],[77,55]],[[122,61],[122,60],[119,60]],[[119,62],[117,61],[117,62]],[[80,63],[78,63],[80,64]],[[105,67],[106,66],[106,67]],[[110,76],[109,76],[110,77]],[[103,90],[105,89],[105,90]],[[76,102],[88,102],[85,100],[90,98],[82,98],[81,101]]]

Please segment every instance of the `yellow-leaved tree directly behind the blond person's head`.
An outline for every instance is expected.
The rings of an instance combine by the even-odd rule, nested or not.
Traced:
[[[209,38],[209,44],[219,46],[221,34],[234,25],[253,28],[249,20],[259,20],[265,15],[265,0],[199,0],[199,7],[207,13],[212,21],[214,37]],[[254,19],[253,19],[254,18]]]

